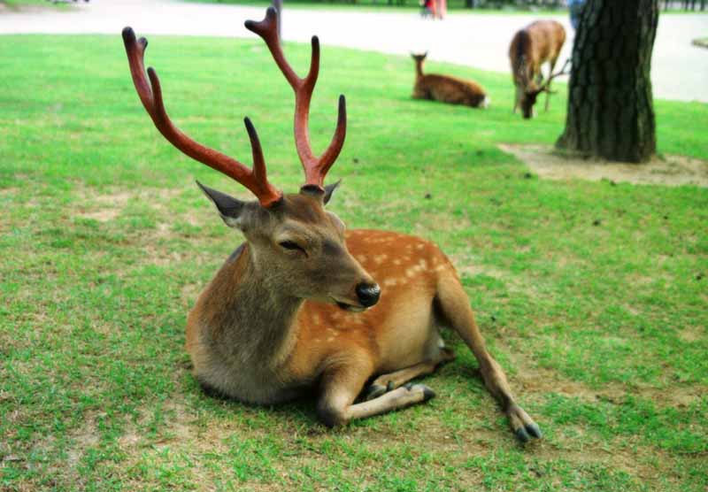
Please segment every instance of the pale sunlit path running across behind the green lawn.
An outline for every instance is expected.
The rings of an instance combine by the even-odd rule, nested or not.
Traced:
[[[512,34],[533,15],[453,13],[444,21],[422,20],[413,11],[365,12],[288,9],[283,38],[406,54],[428,50],[430,58],[496,72],[509,72],[506,51]],[[244,19],[261,19],[262,6],[190,4],[169,0],[93,0],[71,12],[51,9],[0,11],[2,34],[109,34],[132,26],[138,35],[213,35],[253,37]],[[566,16],[557,19],[572,36]],[[708,50],[690,44],[708,33],[708,14],[662,15],[654,49],[654,95],[662,99],[708,102]],[[2,41],[0,41],[2,42]],[[570,42],[562,54],[570,53]],[[510,82],[511,84],[511,82]]]

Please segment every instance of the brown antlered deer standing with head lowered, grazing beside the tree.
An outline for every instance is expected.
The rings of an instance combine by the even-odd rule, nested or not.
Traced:
[[[514,35],[512,45],[509,47],[512,78],[516,86],[514,112],[521,106],[524,118],[532,118],[536,98],[542,92],[546,93],[546,111],[548,111],[550,82],[565,73],[564,71],[553,73],[565,42],[566,29],[555,20],[537,20]],[[549,77],[542,84],[541,65],[546,62],[550,64]]]

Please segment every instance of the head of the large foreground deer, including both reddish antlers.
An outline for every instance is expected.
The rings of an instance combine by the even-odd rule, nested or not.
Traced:
[[[135,89],[155,127],[177,149],[248,188],[258,201],[244,202],[233,196],[197,184],[216,205],[229,227],[242,231],[249,244],[250,260],[266,282],[288,296],[338,304],[342,309],[362,311],[376,304],[380,288],[350,255],[344,242],[342,220],[324,206],[339,184],[325,186],[329,168],[335,163],[346,134],[346,105],[339,98],[335,135],[327,150],[316,157],[310,145],[308,118],[312,91],[319,73],[319,41],[312,37],[310,72],[296,75],[285,59],[278,37],[278,15],[269,7],[266,18],[245,26],[266,42],[276,65],[295,91],[295,142],[305,181],[299,193],[284,195],[267,180],[266,161],[256,128],[245,119],[250,138],[253,167],[209,149],[183,134],[167,116],[158,75],[150,67],[147,78],[143,56],[148,42],[135,39],[130,27],[123,30],[130,72]]]

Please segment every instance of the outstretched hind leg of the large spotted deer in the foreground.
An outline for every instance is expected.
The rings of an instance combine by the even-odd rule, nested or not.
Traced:
[[[473,351],[474,357],[480,364],[480,372],[485,386],[502,406],[509,418],[514,434],[521,442],[527,442],[530,437],[541,437],[541,429],[534,419],[528,416],[512,396],[512,390],[506,381],[502,367],[489,355],[484,339],[474,321],[474,314],[470,308],[465,290],[458,279],[447,274],[438,281],[436,302],[443,318],[452,327],[467,346]]]

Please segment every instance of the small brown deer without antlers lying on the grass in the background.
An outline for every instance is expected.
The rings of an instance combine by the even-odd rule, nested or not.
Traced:
[[[481,86],[473,81],[463,81],[448,75],[423,74],[423,62],[427,52],[421,55],[411,54],[415,60],[415,86],[413,97],[432,99],[448,104],[465,104],[473,108],[487,108],[489,97]]]

